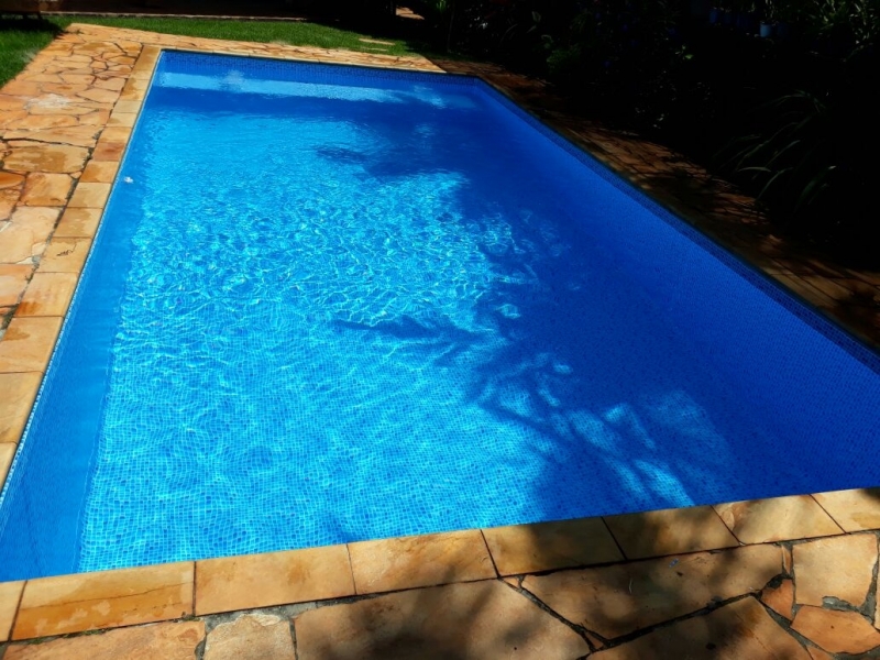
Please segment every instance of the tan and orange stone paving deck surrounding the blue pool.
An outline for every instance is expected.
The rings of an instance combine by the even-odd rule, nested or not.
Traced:
[[[0,89],[0,484],[163,47],[480,75],[880,346],[880,273],[787,244],[732,187],[538,81],[73,25]],[[0,659],[880,657],[878,530],[880,490],[846,491],[0,583]]]

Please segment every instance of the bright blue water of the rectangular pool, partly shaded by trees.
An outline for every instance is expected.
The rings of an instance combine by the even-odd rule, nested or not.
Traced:
[[[470,78],[166,53],[0,580],[877,485],[878,358]]]

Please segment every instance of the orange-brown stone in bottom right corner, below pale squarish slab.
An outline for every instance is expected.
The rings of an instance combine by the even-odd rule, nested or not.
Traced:
[[[832,653],[866,653],[880,647],[880,631],[857,612],[804,605],[791,627]]]

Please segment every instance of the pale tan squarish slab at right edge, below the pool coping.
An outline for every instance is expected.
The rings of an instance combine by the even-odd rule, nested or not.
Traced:
[[[794,546],[798,603],[822,606],[826,596],[860,607],[877,563],[877,537],[855,534]]]

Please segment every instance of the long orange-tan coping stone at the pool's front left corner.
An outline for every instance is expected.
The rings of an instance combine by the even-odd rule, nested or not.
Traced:
[[[193,614],[193,562],[30,580],[13,639],[147,624]]]

